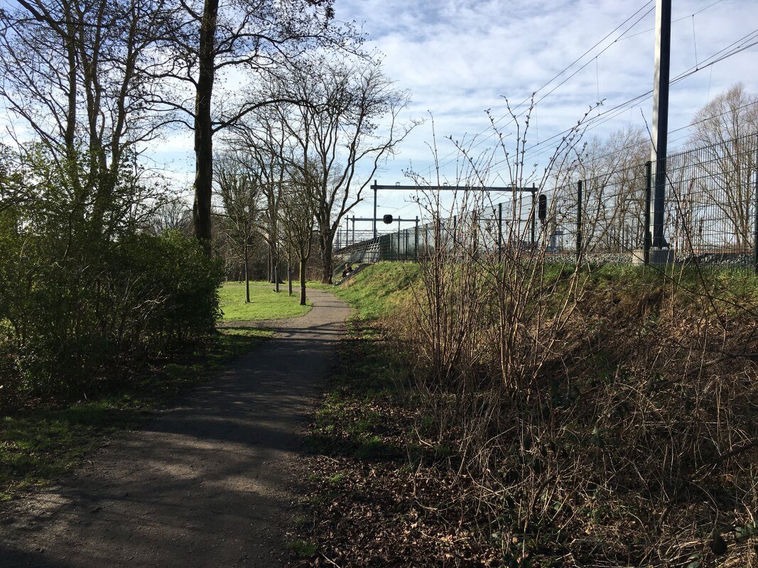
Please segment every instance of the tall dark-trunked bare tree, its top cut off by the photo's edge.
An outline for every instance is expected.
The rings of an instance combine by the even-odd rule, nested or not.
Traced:
[[[195,233],[210,251],[213,136],[270,100],[218,92],[221,73],[243,70],[255,76],[278,73],[303,51],[360,44],[352,28],[334,23],[333,0],[218,0],[181,2],[183,21],[171,38],[174,63],[165,76],[189,86],[193,96],[162,98],[180,111],[195,134]]]

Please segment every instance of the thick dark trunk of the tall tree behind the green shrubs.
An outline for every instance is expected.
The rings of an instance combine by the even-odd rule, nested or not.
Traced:
[[[213,183],[213,124],[211,95],[215,73],[218,0],[205,0],[200,23],[198,80],[195,98],[195,236],[211,255],[211,190]]]

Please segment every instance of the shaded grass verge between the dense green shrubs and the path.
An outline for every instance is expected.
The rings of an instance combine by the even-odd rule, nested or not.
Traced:
[[[155,408],[271,335],[263,329],[221,329],[193,351],[155,364],[119,392],[68,407],[0,417],[0,501],[48,485],[109,435],[138,427]]]

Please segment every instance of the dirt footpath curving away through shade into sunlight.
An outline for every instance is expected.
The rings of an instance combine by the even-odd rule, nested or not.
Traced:
[[[309,314],[275,322],[217,379],[15,503],[0,566],[277,565],[303,422],[349,313],[309,297]]]

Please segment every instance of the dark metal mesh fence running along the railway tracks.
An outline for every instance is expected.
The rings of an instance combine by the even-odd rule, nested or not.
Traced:
[[[536,195],[522,193],[376,239],[364,232],[337,252],[358,263],[421,261],[443,249],[502,255],[518,248],[546,261],[758,270],[756,142],[753,134],[669,156],[662,246],[653,247],[655,164],[648,162],[543,190],[544,216],[537,215]]]

